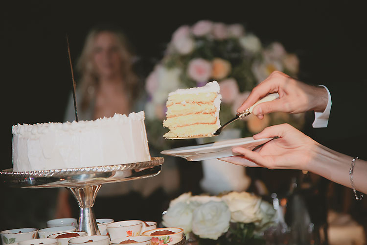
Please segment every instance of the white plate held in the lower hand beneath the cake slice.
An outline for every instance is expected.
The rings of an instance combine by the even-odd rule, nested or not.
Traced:
[[[203,145],[179,147],[161,151],[161,154],[170,156],[179,156],[187,161],[202,161],[208,159],[217,159],[221,157],[235,156],[232,149],[235,147],[244,147],[254,149],[273,138],[254,140],[252,137],[217,141]],[[237,154],[238,155],[238,154]]]

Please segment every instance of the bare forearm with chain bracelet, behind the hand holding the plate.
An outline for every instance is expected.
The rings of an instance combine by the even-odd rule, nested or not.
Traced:
[[[353,157],[318,145],[318,154],[308,164],[307,170],[333,182],[352,188],[349,170]],[[357,159],[353,171],[353,183],[357,191],[367,193],[367,161]]]

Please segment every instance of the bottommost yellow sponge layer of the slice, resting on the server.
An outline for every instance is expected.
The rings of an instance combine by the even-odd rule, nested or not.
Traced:
[[[217,124],[194,124],[184,127],[175,127],[163,135],[165,138],[183,138],[192,136],[207,136],[215,133]]]

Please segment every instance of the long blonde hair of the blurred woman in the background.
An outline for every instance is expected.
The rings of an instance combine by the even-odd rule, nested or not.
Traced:
[[[80,74],[80,89],[81,89],[81,109],[85,110],[89,107],[94,96],[96,86],[98,85],[98,75],[93,66],[93,47],[95,38],[102,32],[109,32],[115,35],[117,40],[117,48],[119,49],[121,62],[121,77],[127,89],[129,101],[134,103],[134,99],[138,93],[138,76],[133,71],[134,54],[128,43],[125,35],[121,30],[114,26],[96,26],[91,29],[85,40],[82,53],[77,61],[76,68]]]

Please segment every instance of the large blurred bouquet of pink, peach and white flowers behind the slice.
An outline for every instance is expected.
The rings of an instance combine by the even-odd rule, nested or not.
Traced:
[[[168,94],[176,89],[218,81],[222,95],[220,120],[225,123],[235,116],[252,88],[273,71],[297,77],[298,67],[297,55],[287,53],[278,42],[264,46],[243,25],[208,20],[182,25],[173,33],[163,58],[146,79],[148,138],[157,147],[169,147],[170,141],[162,138],[168,131],[162,121]],[[229,127],[241,129],[242,137],[248,137],[269,125],[290,123],[299,128],[304,121],[303,114],[286,113],[265,115],[263,120],[250,115],[245,120],[246,123],[237,121]]]

